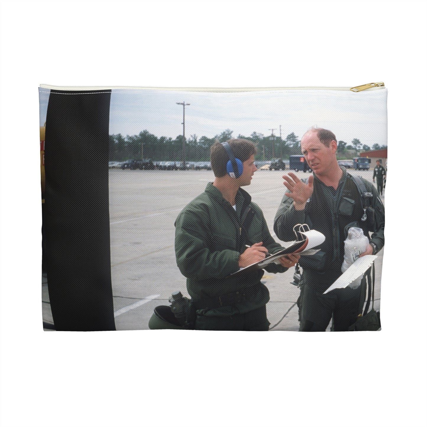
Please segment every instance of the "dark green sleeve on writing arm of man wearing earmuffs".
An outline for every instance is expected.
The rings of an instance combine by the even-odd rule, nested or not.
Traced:
[[[187,208],[175,221],[176,263],[187,278],[222,278],[239,269],[239,252],[210,247],[207,217],[202,209]]]

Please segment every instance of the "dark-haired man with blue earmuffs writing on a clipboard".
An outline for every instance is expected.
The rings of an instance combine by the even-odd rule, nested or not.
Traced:
[[[263,260],[282,247],[272,238],[261,209],[241,187],[257,170],[256,147],[231,139],[211,147],[215,175],[205,191],[179,213],[175,222],[175,254],[187,290],[196,306],[195,329],[268,330],[269,291],[263,270],[231,275]],[[281,257],[265,267],[284,272],[299,255]]]

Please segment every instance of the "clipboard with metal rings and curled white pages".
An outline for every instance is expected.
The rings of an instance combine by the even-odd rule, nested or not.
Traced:
[[[243,272],[250,272],[254,270],[263,269],[268,264],[278,262],[277,260],[284,255],[288,254],[304,254],[313,255],[319,251],[319,249],[313,249],[315,246],[321,245],[325,241],[325,236],[316,230],[310,230],[307,224],[297,224],[294,227],[294,232],[297,240],[293,242],[285,242],[283,249],[269,257],[264,258],[257,263],[253,263],[249,266],[243,267],[229,276],[236,276],[243,274]]]

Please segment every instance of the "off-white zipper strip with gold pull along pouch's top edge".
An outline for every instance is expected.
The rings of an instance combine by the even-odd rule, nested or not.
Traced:
[[[290,90],[307,90],[307,91],[372,91],[384,89],[383,82],[368,83],[366,85],[350,87],[321,87],[321,86],[296,86],[296,87],[276,87],[276,88],[167,88],[156,86],[55,86],[40,85],[43,89],[53,89],[56,91],[105,91],[111,89],[151,89],[161,91],[183,91],[183,92],[259,92],[259,91],[290,91]]]

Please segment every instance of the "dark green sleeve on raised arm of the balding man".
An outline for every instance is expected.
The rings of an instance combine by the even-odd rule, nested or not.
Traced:
[[[296,211],[292,197],[284,196],[274,218],[274,232],[284,242],[295,240],[293,228],[296,224],[304,224],[305,211]]]

